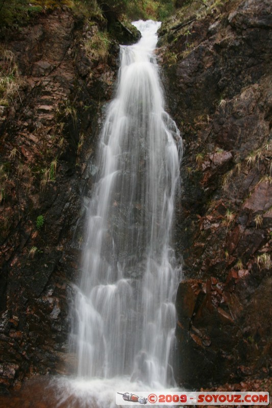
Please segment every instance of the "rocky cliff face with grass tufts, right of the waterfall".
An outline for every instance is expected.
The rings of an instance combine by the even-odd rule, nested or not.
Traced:
[[[200,3],[162,27],[160,53],[185,146],[176,376],[187,387],[272,366],[272,7]]]

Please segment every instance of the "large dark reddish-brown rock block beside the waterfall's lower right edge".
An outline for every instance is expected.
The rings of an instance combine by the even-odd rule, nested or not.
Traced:
[[[271,367],[272,353],[267,347],[271,336],[271,313],[267,310],[271,277],[257,285],[250,282],[251,274],[246,272],[231,272],[225,284],[212,284],[210,279],[190,279],[180,284],[176,329],[180,364],[176,373],[181,384],[207,387],[212,382],[237,381],[249,372],[258,374],[260,368]],[[255,286],[255,290],[245,297],[244,286]],[[202,296],[196,297],[195,293]]]

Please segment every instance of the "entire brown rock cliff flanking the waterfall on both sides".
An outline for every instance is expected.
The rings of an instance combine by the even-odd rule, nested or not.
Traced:
[[[203,3],[180,5],[162,25],[158,50],[184,140],[175,370],[191,388],[267,377],[272,366],[272,7]],[[3,390],[71,364],[82,215],[117,71],[118,46],[99,34],[106,25],[62,7],[1,42],[2,70],[13,69],[17,83],[0,107]]]

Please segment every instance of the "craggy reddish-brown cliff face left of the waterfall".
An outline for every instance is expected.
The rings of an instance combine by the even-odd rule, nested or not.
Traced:
[[[106,55],[86,47],[105,25],[56,9],[2,44],[2,72],[16,87],[0,108],[4,387],[26,373],[64,370],[83,234],[81,197],[95,173],[98,120],[116,74],[117,45],[107,44]],[[16,68],[13,77],[10,68]]]

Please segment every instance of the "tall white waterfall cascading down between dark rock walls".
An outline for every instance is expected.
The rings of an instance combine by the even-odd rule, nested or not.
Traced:
[[[142,38],[120,47],[98,146],[72,339],[78,378],[126,376],[163,389],[175,384],[180,272],[170,243],[182,143],[164,111],[154,56],[160,22],[134,25]]]

